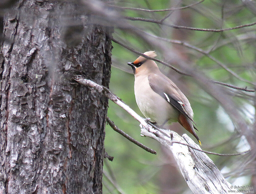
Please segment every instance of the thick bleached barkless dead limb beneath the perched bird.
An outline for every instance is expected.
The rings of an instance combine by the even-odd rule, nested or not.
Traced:
[[[174,131],[166,131],[166,133],[169,133],[170,137],[159,131],[151,133],[141,128],[142,135],[158,141],[172,152],[180,172],[195,194],[228,193],[232,190],[231,184],[226,181],[212,160],[205,153],[200,152],[200,147],[193,140],[186,134],[181,137]]]

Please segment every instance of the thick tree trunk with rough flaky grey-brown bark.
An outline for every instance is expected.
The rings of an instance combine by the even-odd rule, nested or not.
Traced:
[[[4,18],[0,193],[102,193],[108,99],[73,77],[108,87],[111,32],[78,7],[27,0]]]

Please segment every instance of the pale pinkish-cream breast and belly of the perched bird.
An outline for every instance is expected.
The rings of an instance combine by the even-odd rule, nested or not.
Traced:
[[[134,93],[137,105],[146,118],[158,124],[167,119],[177,121],[178,111],[151,89],[147,76],[135,78]]]

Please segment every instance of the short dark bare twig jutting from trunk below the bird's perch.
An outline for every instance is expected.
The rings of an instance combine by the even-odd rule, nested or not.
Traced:
[[[135,145],[141,147],[143,150],[146,150],[147,152],[151,153],[151,154],[156,154],[155,150],[150,149],[149,147],[143,145],[142,143],[138,142],[137,140],[133,139],[130,135],[126,134],[124,131],[122,131],[121,129],[119,129],[118,127],[116,127],[116,125],[114,124],[113,121],[110,120],[109,117],[106,117],[106,120],[109,124],[109,126],[116,132],[118,132],[119,134],[123,135],[127,140],[129,140],[130,142],[134,143]]]

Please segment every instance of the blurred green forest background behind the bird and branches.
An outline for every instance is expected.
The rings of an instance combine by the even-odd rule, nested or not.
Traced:
[[[116,21],[114,39],[142,53],[155,50],[157,59],[192,75],[182,75],[157,63],[189,99],[203,150],[237,153],[253,149],[239,156],[208,156],[232,185],[256,186],[255,92],[241,89],[255,88],[256,26],[220,32],[170,26],[202,30],[251,24],[256,21],[255,1],[114,0],[105,3],[111,5],[109,13],[119,14],[127,22],[123,23],[124,27]],[[148,12],[129,8],[174,9]],[[112,43],[110,90],[143,116],[135,101],[134,75],[126,64],[138,55]],[[172,154],[158,142],[140,136],[139,122],[111,101],[108,116],[121,130],[156,150],[157,155],[144,151],[106,125],[105,150],[114,160],[104,162],[103,193],[192,193]],[[180,135],[188,134],[178,123],[168,128]]]

